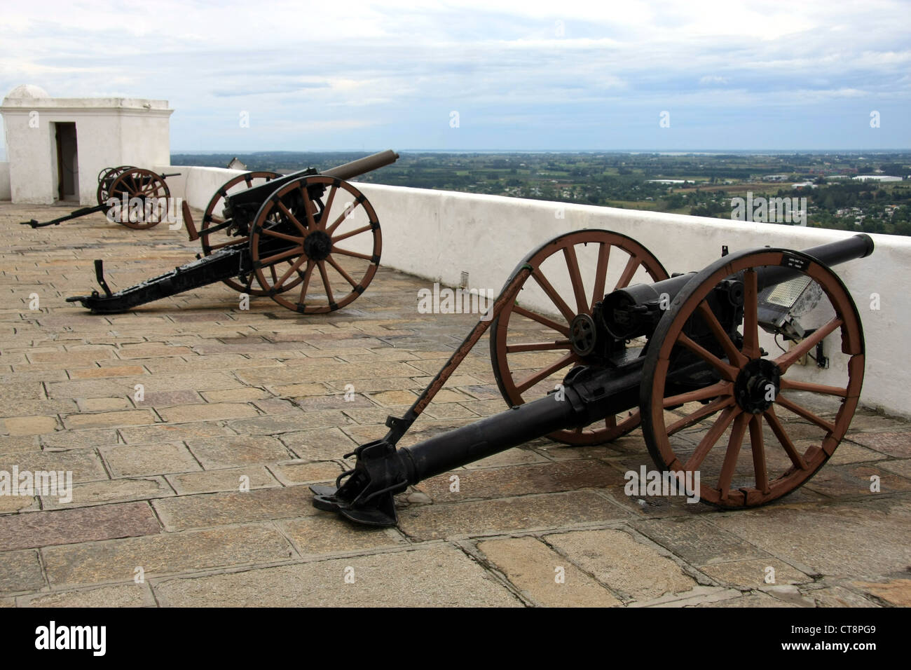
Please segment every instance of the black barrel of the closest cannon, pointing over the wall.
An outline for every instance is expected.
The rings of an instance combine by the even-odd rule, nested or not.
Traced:
[[[832,266],[865,258],[873,253],[873,249],[873,239],[862,232],[838,242],[829,242],[804,249],[801,253],[813,256],[817,261]],[[758,251],[762,251],[762,249],[760,248]],[[604,297],[604,320],[610,333],[619,338],[648,335],[648,329],[644,329],[640,323],[624,319],[624,313],[628,313],[633,306],[660,301],[662,295],[666,295],[666,299],[672,301],[695,274],[694,272],[678,274],[663,282],[637,283],[606,295]],[[800,274],[791,267],[783,266],[763,267],[756,273],[760,291],[776,283],[788,282]]]

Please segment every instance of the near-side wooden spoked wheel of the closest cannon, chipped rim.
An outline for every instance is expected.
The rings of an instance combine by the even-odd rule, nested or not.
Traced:
[[[760,347],[757,315],[757,270],[763,266],[803,267],[800,272],[828,298],[827,305],[821,298],[821,325],[811,335],[769,356]],[[729,334],[706,298],[737,273],[743,283],[742,331]],[[687,332],[704,334],[702,345]],[[836,333],[841,346],[829,347],[826,355],[827,376],[837,383],[802,381],[795,374],[801,366],[794,364]],[[669,375],[680,369],[681,356],[704,361],[717,381],[683,390],[680,378]],[[643,366],[642,432],[659,469],[700,473],[701,500],[726,508],[762,505],[802,486],[832,456],[854,417],[863,378],[863,329],[835,273],[811,256],[783,249],[732,254],[697,273],[661,317]],[[817,408],[826,403],[830,414]],[[675,407],[679,413],[669,411]]]

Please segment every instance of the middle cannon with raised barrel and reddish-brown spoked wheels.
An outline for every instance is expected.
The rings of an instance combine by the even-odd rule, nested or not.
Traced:
[[[212,197],[199,230],[183,202],[189,239],[202,243],[197,260],[116,293],[97,260],[96,279],[104,294],[93,291],[67,302],[112,314],[224,282],[243,294],[270,296],[301,314],[341,309],[373,280],[383,247],[376,211],[346,180],[395,160],[398,154],[387,150],[322,172],[249,172],[229,180]],[[284,295],[288,292],[290,297]]]

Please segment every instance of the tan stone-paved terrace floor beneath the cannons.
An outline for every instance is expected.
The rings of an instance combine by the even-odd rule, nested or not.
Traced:
[[[472,317],[417,314],[426,284],[387,269],[330,315],[241,311],[221,284],[88,314],[64,297],[93,287],[93,259],[124,287],[197,245],[101,215],[16,225],[61,211],[0,203],[0,471],[74,478],[69,503],[0,496],[2,605],[911,604],[911,425],[872,414],[756,510],[624,495],[623,472],[651,467],[638,430],[536,440],[459,470],[458,494],[430,479],[394,530],[314,510],[306,485],[384,434]],[[502,407],[482,341],[403,444]]]

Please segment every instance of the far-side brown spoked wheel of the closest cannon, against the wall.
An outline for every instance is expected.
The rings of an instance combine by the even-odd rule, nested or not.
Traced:
[[[544,396],[570,366],[585,362],[569,345],[569,327],[577,314],[591,314],[605,293],[633,280],[668,278],[660,261],[639,242],[619,232],[600,230],[568,232],[546,242],[517,265],[507,284],[526,265],[531,266],[528,277],[534,281],[523,282],[517,302],[497,315],[490,331],[496,384],[510,406]],[[588,287],[583,276],[591,278]],[[638,425],[639,412],[634,411],[630,416],[609,417],[588,428],[559,430],[548,437],[567,444],[599,444]]]

